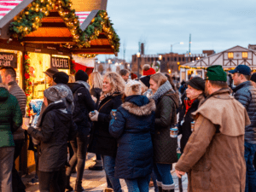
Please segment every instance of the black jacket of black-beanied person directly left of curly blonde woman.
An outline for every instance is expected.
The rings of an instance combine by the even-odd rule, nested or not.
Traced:
[[[76,94],[79,97],[79,107],[82,113],[79,113],[77,116],[73,116],[74,122],[79,126],[78,133],[82,131],[88,135],[91,127],[89,113],[96,109],[95,102],[92,100],[89,90],[84,87],[84,84],[70,83],[67,85],[73,93],[77,91]]]

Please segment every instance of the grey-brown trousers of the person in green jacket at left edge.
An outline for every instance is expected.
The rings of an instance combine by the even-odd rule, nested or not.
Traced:
[[[14,165],[15,147],[0,148],[0,191],[13,191],[12,168]]]

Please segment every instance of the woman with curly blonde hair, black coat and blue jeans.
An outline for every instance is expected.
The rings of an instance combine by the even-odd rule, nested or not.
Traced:
[[[125,81],[118,73],[106,73],[103,77],[102,96],[98,111],[93,115],[90,113],[90,120],[94,121],[89,152],[101,154],[103,166],[114,192],[121,192],[119,178],[114,177],[115,156],[117,153],[117,141],[108,131],[111,111],[119,108],[122,104],[122,95],[125,90]]]

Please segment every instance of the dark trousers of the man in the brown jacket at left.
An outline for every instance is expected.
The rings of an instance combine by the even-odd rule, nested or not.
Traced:
[[[24,139],[15,140],[15,156],[14,156],[14,166],[12,170],[12,179],[13,179],[13,192],[25,191],[26,186],[22,183],[21,178],[17,170],[15,169],[15,160],[20,156],[21,149],[24,145]]]

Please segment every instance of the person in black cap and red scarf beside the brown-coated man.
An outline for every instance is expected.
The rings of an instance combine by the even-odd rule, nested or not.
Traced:
[[[199,103],[205,98],[203,92],[205,90],[205,80],[200,77],[190,79],[188,82],[188,89],[186,91],[186,97],[182,102],[182,106],[179,112],[179,120],[177,123],[178,132],[182,134],[180,141],[181,152],[189,141],[189,137],[192,134],[193,125],[195,120],[191,117],[191,113],[195,112],[199,107]]]

